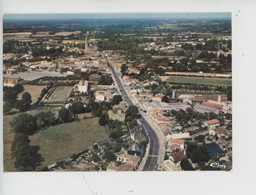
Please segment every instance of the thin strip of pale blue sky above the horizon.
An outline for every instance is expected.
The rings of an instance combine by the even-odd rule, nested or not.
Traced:
[[[5,20],[70,20],[70,19],[231,19],[231,12],[219,13],[95,13],[95,14],[5,14]]]

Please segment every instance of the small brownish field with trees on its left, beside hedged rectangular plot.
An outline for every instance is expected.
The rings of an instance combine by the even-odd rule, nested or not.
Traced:
[[[18,94],[18,100],[21,100],[22,94],[25,92],[30,93],[32,97],[32,104],[37,102],[43,88],[46,88],[47,85],[24,85],[24,91]]]

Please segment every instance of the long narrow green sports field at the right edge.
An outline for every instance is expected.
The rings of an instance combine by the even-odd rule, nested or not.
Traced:
[[[166,82],[180,84],[201,84],[201,85],[232,85],[231,79],[208,79],[192,77],[169,77]]]

